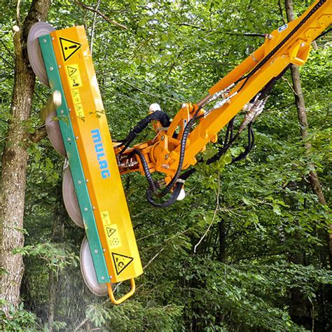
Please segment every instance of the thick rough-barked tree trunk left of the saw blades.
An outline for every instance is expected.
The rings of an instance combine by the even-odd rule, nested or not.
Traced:
[[[24,244],[23,215],[27,172],[27,131],[34,95],[35,76],[27,57],[27,34],[35,22],[46,20],[50,0],[34,0],[22,30],[14,34],[15,78],[11,102],[11,122],[6,134],[0,179],[0,298],[8,305],[20,303],[23,274],[22,255],[13,249]],[[19,23],[18,23],[19,24]],[[4,310],[8,312],[8,305]]]

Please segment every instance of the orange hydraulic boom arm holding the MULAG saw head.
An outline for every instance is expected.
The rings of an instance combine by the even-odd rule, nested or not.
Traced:
[[[320,2],[321,1],[318,0],[315,1],[300,18],[279,27],[279,29],[276,29],[266,36],[265,43],[260,48],[249,55],[246,60],[209,89],[209,95],[205,97],[205,100],[212,97],[216,92],[221,92],[233,83],[236,83],[233,89],[226,91],[223,95],[224,98],[227,98],[235,93],[234,97],[219,109],[215,109],[207,114],[207,116],[201,118],[199,120],[200,123],[198,123],[191,134],[189,134],[186,142],[183,169],[195,165],[197,162],[195,156],[199,152],[205,151],[206,144],[209,143],[209,141],[216,142],[218,132],[239,113],[243,106],[256,96],[272,78],[282,73],[289,64],[302,65],[307,61],[311,48],[310,44],[326,27],[331,25],[332,0],[325,1],[321,6],[319,4]],[[305,22],[300,23],[303,18],[312,11],[312,8],[316,8],[315,6],[319,6],[317,11],[315,11],[310,18],[306,19]],[[294,28],[297,29],[297,31],[289,37],[289,34],[292,33]],[[284,40],[286,40],[286,42],[276,50],[279,43]],[[263,64],[247,81],[242,79],[237,83],[242,76],[250,73],[272,50],[276,51],[268,62]],[[140,150],[141,153],[144,154],[150,172],[158,171],[166,174],[166,183],[172,179],[177,170],[182,132],[184,131],[186,123],[193,118],[193,113],[195,113],[193,111],[198,109],[198,106],[197,104],[184,104],[177,115],[174,116],[172,124],[168,129],[159,128],[160,130],[155,139],[134,146],[135,149]],[[204,113],[204,110],[202,110],[201,113]],[[180,131],[177,135],[177,139],[174,139],[173,134],[177,128],[180,128]],[[120,147],[116,148],[116,153],[119,151]],[[126,153],[124,153],[124,156],[130,155],[131,152],[132,149],[128,149]],[[130,163],[129,161],[123,158],[122,165],[126,165],[126,163],[128,165]],[[120,172],[127,173],[139,170],[141,174],[144,174],[140,160],[137,160],[137,162],[139,164],[138,167],[120,167]]]

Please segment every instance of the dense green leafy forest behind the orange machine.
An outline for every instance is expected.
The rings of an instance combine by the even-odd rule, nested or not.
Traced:
[[[288,11],[290,4],[287,0]],[[294,1],[295,15],[310,4]],[[144,198],[144,177],[123,177],[144,275],[137,278],[135,295],[116,307],[92,296],[83,284],[78,254],[84,232],[71,222],[62,202],[64,160],[43,138],[40,111],[50,92],[38,80],[29,83],[34,80],[29,69],[31,113],[25,107],[23,119],[13,107],[26,97],[24,83],[17,90],[20,82],[15,85],[14,76],[22,74],[20,66],[27,61],[19,41],[32,19],[30,8],[57,29],[85,26],[114,139],[125,137],[153,102],[172,117],[182,102],[200,100],[263,43],[263,34],[287,20],[285,4],[277,0],[34,0],[33,6],[31,1],[1,1],[1,258],[9,257],[19,268],[18,296],[1,300],[0,329],[331,331],[331,238],[326,236],[331,36],[317,41],[317,50],[300,68],[308,129],[298,116],[300,93],[296,90],[294,99],[295,76],[288,71],[254,124],[254,151],[230,165],[246,144],[242,135],[220,162],[199,167],[188,180],[184,201],[156,209]],[[22,35],[13,32],[14,25]],[[27,153],[18,197],[24,216],[13,206],[14,221],[4,218],[11,146]],[[215,149],[209,146],[206,155]],[[313,177],[322,191],[314,187]],[[4,245],[7,228],[20,245]],[[1,265],[0,272],[13,271]]]

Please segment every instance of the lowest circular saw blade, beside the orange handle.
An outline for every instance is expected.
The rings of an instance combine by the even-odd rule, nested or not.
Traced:
[[[84,237],[81,244],[80,263],[83,280],[88,289],[97,296],[106,296],[108,293],[107,286],[106,284],[98,284],[95,266],[93,265],[91,251],[86,237]]]

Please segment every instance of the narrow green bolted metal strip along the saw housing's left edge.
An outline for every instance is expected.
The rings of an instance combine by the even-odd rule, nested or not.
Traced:
[[[95,265],[97,280],[99,284],[104,284],[106,282],[110,282],[109,272],[106,267],[102,244],[100,243],[96,227],[95,216],[92,210],[88,187],[85,183],[83,167],[78,153],[74,130],[71,126],[69,109],[64,97],[64,91],[62,88],[61,78],[57,68],[57,61],[55,58],[50,35],[39,37],[39,44],[41,46],[41,53],[43,55],[50,88],[52,91],[60,91],[62,95],[62,104],[57,108],[57,118],[59,118],[62,139],[64,141],[64,147],[67,151],[71,176],[73,177],[78,204],[83,216],[85,232],[88,238],[92,260]]]

